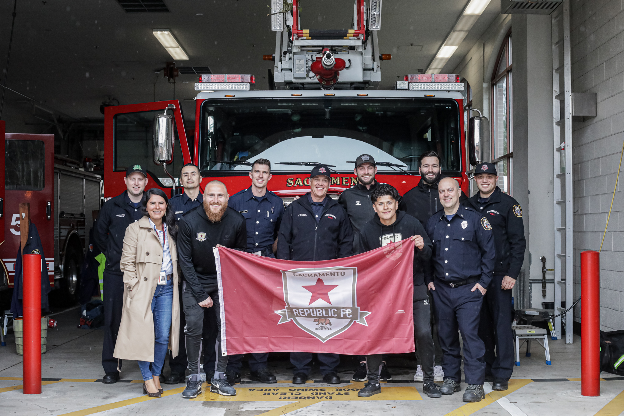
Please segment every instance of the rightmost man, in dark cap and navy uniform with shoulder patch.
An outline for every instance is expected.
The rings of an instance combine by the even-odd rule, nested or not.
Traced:
[[[496,186],[498,176],[492,163],[477,165],[474,178],[479,193],[464,201],[464,206],[474,208],[487,218],[494,228],[496,246],[494,277],[485,294],[479,325],[479,336],[485,343],[485,376],[493,379],[493,390],[507,390],[514,370],[512,288],[527,247],[522,208],[518,201]]]

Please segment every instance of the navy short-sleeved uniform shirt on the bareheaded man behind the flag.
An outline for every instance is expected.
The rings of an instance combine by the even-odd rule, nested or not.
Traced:
[[[228,206],[245,217],[249,253],[273,246],[285,211],[284,203],[279,196],[269,190],[265,196],[253,196],[250,186],[230,196]]]

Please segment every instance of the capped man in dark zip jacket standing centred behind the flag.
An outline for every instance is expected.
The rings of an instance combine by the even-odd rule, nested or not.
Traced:
[[[277,241],[278,259],[298,261],[331,260],[351,256],[353,231],[344,208],[327,196],[329,168],[318,165],[310,173],[310,192],[293,201],[281,221]],[[293,384],[305,384],[310,374],[311,352],[291,352]],[[339,354],[318,353],[323,381],[339,384],[336,368]]]

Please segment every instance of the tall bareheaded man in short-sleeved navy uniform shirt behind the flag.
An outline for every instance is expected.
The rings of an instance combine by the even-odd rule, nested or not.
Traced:
[[[273,247],[284,214],[284,203],[275,193],[266,189],[271,180],[271,162],[258,159],[253,162],[249,177],[251,186],[230,196],[228,205],[245,217],[247,226],[247,251],[258,256],[272,257]],[[268,369],[268,352],[251,354],[249,378],[261,383],[276,383],[277,378]],[[240,382],[243,355],[230,356],[228,373]]]

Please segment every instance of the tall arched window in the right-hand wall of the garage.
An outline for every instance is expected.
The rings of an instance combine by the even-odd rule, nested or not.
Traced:
[[[512,133],[512,39],[507,34],[492,74],[492,163],[499,174],[497,185],[513,193],[511,173],[514,163]]]

